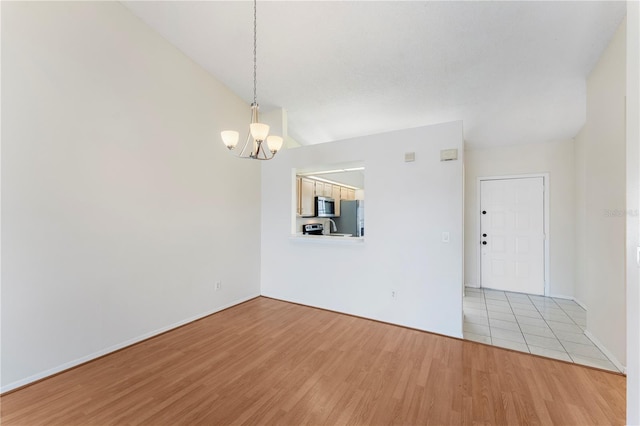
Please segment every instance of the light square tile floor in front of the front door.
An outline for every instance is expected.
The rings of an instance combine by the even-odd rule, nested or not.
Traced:
[[[463,306],[465,339],[619,372],[573,300],[467,287]]]

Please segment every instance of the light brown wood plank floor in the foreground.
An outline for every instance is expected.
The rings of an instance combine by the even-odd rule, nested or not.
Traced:
[[[625,377],[268,298],[1,398],[3,425],[624,424]]]

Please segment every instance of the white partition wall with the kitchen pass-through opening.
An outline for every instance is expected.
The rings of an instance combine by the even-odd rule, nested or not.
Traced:
[[[454,122],[301,147],[264,164],[262,294],[461,337],[462,145]],[[440,162],[445,148],[460,159]],[[293,169],[352,161],[366,168],[365,242],[290,239]]]

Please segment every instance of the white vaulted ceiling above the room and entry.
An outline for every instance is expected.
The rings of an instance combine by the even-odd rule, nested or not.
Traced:
[[[247,103],[253,3],[123,2]],[[463,120],[468,146],[565,140],[625,2],[258,1],[258,102],[316,144]],[[248,115],[248,112],[247,112]]]

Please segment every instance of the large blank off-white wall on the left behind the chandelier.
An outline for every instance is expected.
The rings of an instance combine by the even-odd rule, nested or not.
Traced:
[[[2,2],[2,89],[2,391],[259,294],[230,90],[117,2]]]

